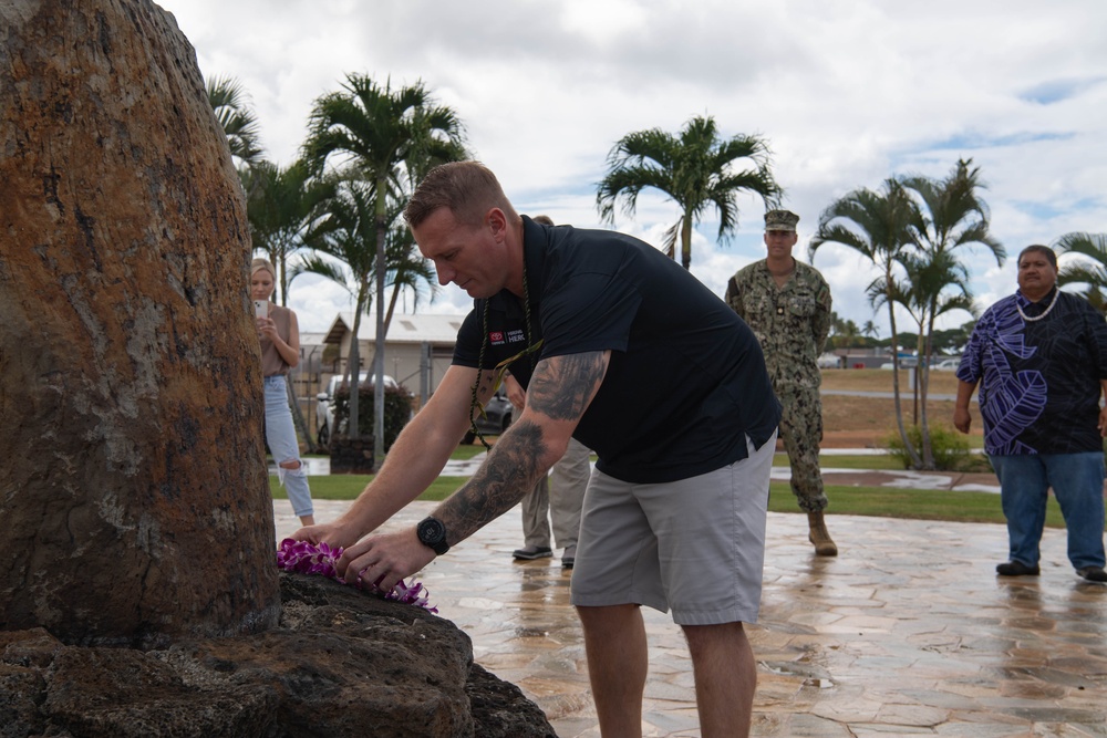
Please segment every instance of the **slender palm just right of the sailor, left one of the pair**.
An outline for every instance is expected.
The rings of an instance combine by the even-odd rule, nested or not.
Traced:
[[[900,438],[912,462],[921,466],[922,459],[915,451],[903,427],[903,410],[900,403],[899,346],[896,339],[894,284],[899,257],[913,243],[911,224],[918,221],[918,207],[896,179],[884,180],[882,191],[867,188],[855,189],[831,202],[820,215],[818,231],[808,246],[808,258],[814,261],[816,251],[826,243],[840,243],[858,251],[880,270],[869,285],[870,303],[873,302],[873,287],[882,285],[883,302],[888,306],[891,325],[892,350],[892,394],[896,402],[896,423]]]

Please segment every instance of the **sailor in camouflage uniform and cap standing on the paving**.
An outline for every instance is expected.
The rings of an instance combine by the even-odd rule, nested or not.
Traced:
[[[807,512],[809,539],[818,555],[838,548],[827,532],[827,498],[819,471],[823,402],[818,356],[830,332],[830,288],[814,267],[792,256],[799,216],[788,210],[765,214],[768,257],[731,278],[726,302],[749,324],[765,352],[773,389],[784,406],[780,438],[792,466],[792,491]]]

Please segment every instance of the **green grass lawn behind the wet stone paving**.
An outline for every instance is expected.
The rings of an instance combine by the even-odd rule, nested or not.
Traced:
[[[470,459],[483,447],[458,446],[455,460]],[[775,466],[787,466],[787,457],[778,454]],[[902,468],[888,456],[823,456],[824,468],[838,469],[898,469]],[[317,499],[352,500],[373,477],[371,475],[334,475],[311,477],[311,495]],[[468,480],[467,477],[438,477],[418,499],[438,501]],[[277,477],[269,478],[269,488],[277,499],[286,499],[278,487]],[[799,512],[787,482],[769,486],[769,510]],[[931,489],[900,489],[888,487],[828,486],[829,511],[834,514],[873,516],[880,518],[914,518],[921,520],[950,520],[959,522],[1003,523],[1000,496],[989,492],[953,492]],[[1064,520],[1056,500],[1049,498],[1046,526],[1063,528]]]

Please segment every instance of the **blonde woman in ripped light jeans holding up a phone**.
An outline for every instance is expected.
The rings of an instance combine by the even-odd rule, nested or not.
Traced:
[[[300,363],[300,328],[296,313],[273,304],[269,298],[276,288],[277,270],[268,259],[250,264],[250,297],[254,299],[261,340],[261,370],[265,374],[266,441],[277,462],[277,476],[288,490],[292,511],[304,526],[315,523],[308,475],[300,460],[300,444],[288,407],[286,377]]]

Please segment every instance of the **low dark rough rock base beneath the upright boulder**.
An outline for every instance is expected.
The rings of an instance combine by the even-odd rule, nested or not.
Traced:
[[[259,635],[141,652],[0,632],[0,735],[556,738],[449,621],[280,576],[284,615]]]

